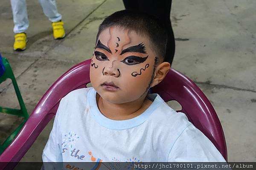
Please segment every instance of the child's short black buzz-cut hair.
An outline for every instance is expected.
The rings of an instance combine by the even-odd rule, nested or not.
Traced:
[[[147,36],[151,42],[151,49],[157,54],[156,57],[159,58],[160,61],[165,60],[167,34],[163,25],[153,16],[139,11],[117,11],[106,17],[99,25],[96,41],[99,38],[99,34],[111,26],[128,28],[136,31],[137,34]]]

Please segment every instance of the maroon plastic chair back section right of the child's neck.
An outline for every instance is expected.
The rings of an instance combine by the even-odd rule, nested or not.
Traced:
[[[165,79],[151,88],[151,93],[159,94],[165,102],[175,100],[180,103],[189,121],[195,125],[219,150],[227,161],[227,145],[221,122],[204,93],[192,80],[171,68]]]

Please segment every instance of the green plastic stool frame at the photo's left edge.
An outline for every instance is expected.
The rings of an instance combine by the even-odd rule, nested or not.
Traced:
[[[12,114],[12,115],[16,115],[16,116],[22,116],[22,117],[24,117],[24,121],[5,140],[5,142],[3,142],[3,144],[0,144],[0,154],[2,154],[3,151],[6,149],[6,147],[9,146],[9,144],[13,141],[13,139],[15,139],[15,137],[19,133],[21,127],[23,127],[23,125],[25,124],[26,120],[29,118],[29,114],[28,114],[28,112],[26,110],[26,106],[25,106],[25,104],[23,102],[23,99],[21,97],[20,90],[18,88],[16,79],[15,79],[14,74],[12,72],[12,68],[9,65],[9,62],[8,62],[8,60],[6,58],[2,58],[2,59],[3,59],[3,66],[5,67],[5,71],[3,72],[3,75],[0,76],[0,83],[2,83],[3,81],[5,81],[8,78],[12,80],[12,84],[14,86],[14,89],[15,89],[15,92],[16,92],[16,95],[17,95],[17,98],[18,98],[18,101],[19,101],[19,104],[20,104],[20,109],[4,108],[4,107],[0,106],[0,112],[7,113],[7,114]]]

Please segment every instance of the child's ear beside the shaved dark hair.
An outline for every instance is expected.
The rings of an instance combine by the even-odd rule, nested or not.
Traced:
[[[166,77],[166,74],[169,72],[170,68],[171,65],[169,62],[162,62],[160,65],[158,65],[155,70],[155,76],[150,87],[153,87],[160,83]]]

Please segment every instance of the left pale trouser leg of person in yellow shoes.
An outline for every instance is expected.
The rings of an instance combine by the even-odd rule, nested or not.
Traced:
[[[26,0],[11,0],[15,34],[26,32],[29,27]]]

